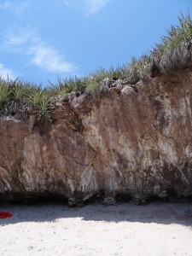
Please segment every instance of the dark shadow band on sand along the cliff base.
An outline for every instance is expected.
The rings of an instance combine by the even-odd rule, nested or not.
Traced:
[[[0,226],[21,222],[54,222],[58,218],[81,218],[83,221],[115,223],[181,224],[192,228],[192,203],[189,202],[153,201],[145,206],[136,206],[131,203],[116,206],[92,204],[69,208],[61,201],[41,201],[30,206],[3,203],[0,204],[0,211],[13,213],[11,218],[0,219]]]

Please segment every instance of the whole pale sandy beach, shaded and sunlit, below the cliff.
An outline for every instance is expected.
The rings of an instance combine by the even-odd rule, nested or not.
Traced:
[[[0,255],[192,255],[192,204],[3,204]]]

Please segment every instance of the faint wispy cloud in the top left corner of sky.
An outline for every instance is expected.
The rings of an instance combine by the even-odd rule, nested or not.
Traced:
[[[22,3],[14,3],[14,1],[5,0],[0,4],[0,10],[9,10],[15,15],[22,15],[27,9],[30,9],[31,3],[29,1],[22,1]]]

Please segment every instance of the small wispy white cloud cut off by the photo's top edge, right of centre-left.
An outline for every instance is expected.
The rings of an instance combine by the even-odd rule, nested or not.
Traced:
[[[95,15],[103,9],[111,0],[64,0],[68,7],[84,10],[86,16]]]

